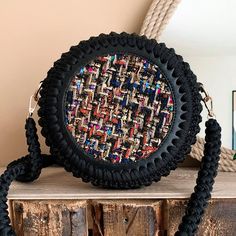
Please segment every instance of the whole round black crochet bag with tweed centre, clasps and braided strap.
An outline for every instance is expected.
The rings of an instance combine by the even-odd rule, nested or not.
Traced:
[[[32,99],[51,155],[40,152],[30,106],[29,154],[0,179],[0,235],[15,235],[6,204],[10,183],[33,181],[48,165],[105,188],[138,188],[167,176],[196,142],[203,101],[204,157],[176,232],[195,234],[217,174],[221,128],[211,98],[173,49],[136,34],[91,37],[62,54]]]

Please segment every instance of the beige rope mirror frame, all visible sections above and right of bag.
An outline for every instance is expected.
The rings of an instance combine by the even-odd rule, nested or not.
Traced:
[[[153,0],[143,21],[140,35],[146,35],[150,39],[155,38],[158,40],[179,3],[180,0]],[[200,161],[203,149],[204,139],[197,137],[197,142],[193,145],[190,156]],[[233,158],[235,154],[235,150],[221,147],[219,170],[235,172],[236,160]]]

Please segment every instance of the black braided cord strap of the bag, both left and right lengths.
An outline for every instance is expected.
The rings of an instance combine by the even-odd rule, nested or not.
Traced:
[[[33,118],[26,120],[26,137],[29,155],[13,161],[0,177],[0,236],[15,236],[10,225],[7,206],[7,194],[13,180],[30,182],[37,179],[43,167],[56,162],[55,157],[41,155],[37,129]],[[179,225],[176,236],[192,236],[204,214],[208,200],[211,197],[214,178],[217,175],[218,161],[221,146],[221,128],[215,119],[206,122],[205,150],[198,172],[197,185],[194,188],[182,223]]]

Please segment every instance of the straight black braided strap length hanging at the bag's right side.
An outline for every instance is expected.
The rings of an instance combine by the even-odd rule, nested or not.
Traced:
[[[197,185],[189,199],[182,223],[179,225],[179,231],[175,234],[177,236],[192,236],[196,233],[208,200],[211,198],[221,146],[221,128],[214,119],[206,122],[205,141],[204,156],[198,172]]]

